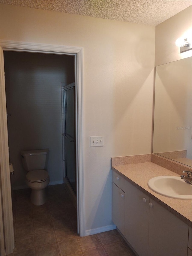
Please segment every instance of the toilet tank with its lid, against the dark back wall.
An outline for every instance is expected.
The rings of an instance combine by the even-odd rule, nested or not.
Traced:
[[[49,149],[37,149],[22,151],[22,164],[24,169],[29,172],[33,170],[45,170],[48,161]]]

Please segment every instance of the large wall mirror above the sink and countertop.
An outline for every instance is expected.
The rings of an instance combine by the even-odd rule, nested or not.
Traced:
[[[192,166],[192,57],[157,66],[153,153]]]

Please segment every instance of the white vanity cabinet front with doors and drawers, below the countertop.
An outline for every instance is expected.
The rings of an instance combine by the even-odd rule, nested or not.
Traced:
[[[190,255],[187,224],[127,180],[124,191],[114,182],[113,222],[139,256]]]

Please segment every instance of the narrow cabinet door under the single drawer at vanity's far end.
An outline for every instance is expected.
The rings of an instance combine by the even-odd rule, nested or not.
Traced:
[[[124,235],[125,220],[125,192],[113,183],[112,220]]]

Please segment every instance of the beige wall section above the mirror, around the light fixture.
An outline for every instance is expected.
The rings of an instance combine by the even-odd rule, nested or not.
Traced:
[[[155,28],[155,66],[192,56],[192,50],[180,53],[175,41],[192,37],[192,6]]]

